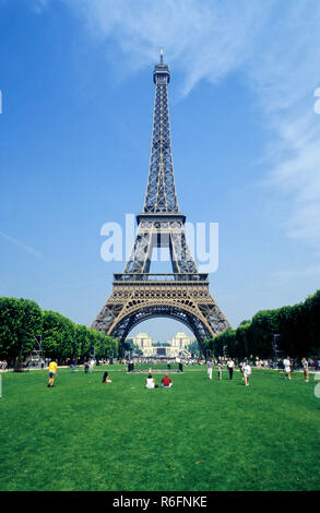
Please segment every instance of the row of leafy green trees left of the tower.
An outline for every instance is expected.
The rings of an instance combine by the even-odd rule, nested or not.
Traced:
[[[75,324],[61,313],[42,310],[29,299],[0,297],[0,359],[25,359],[40,337],[46,358],[60,363],[68,358],[87,359],[118,355],[118,341]]]

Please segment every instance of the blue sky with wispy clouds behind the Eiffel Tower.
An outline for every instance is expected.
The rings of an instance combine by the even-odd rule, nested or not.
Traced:
[[[123,263],[100,228],[143,206],[161,46],[179,206],[220,224],[213,297],[237,326],[319,288],[319,23],[317,0],[0,0],[0,295],[102,308]]]

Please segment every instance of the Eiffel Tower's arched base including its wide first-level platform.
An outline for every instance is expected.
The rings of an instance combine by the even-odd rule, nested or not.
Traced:
[[[199,344],[229,327],[209,291],[206,274],[115,274],[112,293],[92,327],[123,342],[152,318],[182,322]]]

